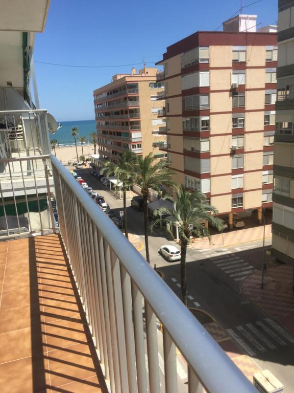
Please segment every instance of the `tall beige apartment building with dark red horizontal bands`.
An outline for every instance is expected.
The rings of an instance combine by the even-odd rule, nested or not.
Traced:
[[[175,181],[200,189],[220,215],[272,207],[277,34],[256,15],[199,31],[163,60],[166,136]],[[265,31],[264,31],[265,30]]]

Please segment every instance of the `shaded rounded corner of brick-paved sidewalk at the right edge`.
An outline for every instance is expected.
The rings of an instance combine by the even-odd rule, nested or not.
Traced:
[[[259,309],[294,334],[293,267],[279,265],[269,267],[261,289],[261,272],[257,271],[241,281],[240,289]]]

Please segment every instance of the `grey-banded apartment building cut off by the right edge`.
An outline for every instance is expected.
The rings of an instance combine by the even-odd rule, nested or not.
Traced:
[[[294,3],[279,0],[273,253],[294,266]]]

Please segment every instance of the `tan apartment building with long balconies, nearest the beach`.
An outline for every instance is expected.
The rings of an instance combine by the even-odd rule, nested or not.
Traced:
[[[157,68],[144,67],[136,73],[117,74],[112,82],[94,91],[99,160],[117,160],[124,150],[136,155],[153,152],[158,159],[167,156],[159,150],[165,136],[162,105],[164,83],[156,81]]]

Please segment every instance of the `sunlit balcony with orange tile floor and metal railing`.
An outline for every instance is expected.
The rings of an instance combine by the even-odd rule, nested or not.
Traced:
[[[203,386],[208,393],[254,393],[67,169],[52,155],[48,160],[54,193],[48,190],[46,210],[54,217],[54,197],[59,228],[52,219],[50,234],[12,240],[23,234],[8,226],[0,243],[0,391],[160,391],[163,383],[174,393],[185,383],[190,392]],[[185,359],[182,382],[177,351]]]

